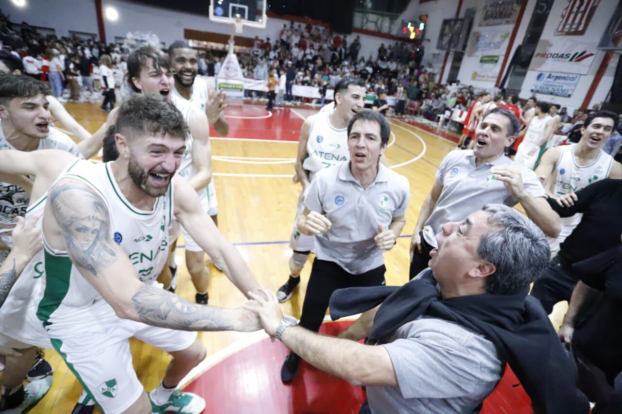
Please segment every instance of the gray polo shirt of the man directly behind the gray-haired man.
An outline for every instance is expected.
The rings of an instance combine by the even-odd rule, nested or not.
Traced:
[[[490,168],[508,165],[519,168],[525,190],[532,197],[544,197],[542,183],[532,170],[516,165],[505,155],[498,159],[475,165],[473,150],[452,151],[445,155],[436,173],[436,180],[443,186],[439,200],[424,224],[424,239],[436,247],[435,236],[442,224],[462,221],[469,214],[486,204],[515,206],[518,200],[510,195],[503,182],[496,180]]]

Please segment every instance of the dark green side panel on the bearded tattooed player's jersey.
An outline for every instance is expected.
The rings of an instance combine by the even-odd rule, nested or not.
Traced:
[[[37,318],[47,327],[50,326],[50,316],[58,309],[69,291],[73,263],[68,255],[53,255],[45,246],[44,254],[45,290],[37,308]]]

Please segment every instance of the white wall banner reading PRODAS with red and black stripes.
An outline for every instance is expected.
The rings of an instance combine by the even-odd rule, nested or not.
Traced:
[[[531,59],[529,70],[562,69],[568,73],[587,75],[594,62],[595,53],[596,48],[593,44],[568,40],[567,37],[555,37],[553,43],[548,39],[541,39]]]

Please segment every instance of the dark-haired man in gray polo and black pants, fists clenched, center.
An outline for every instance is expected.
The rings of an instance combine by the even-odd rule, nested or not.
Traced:
[[[361,111],[348,124],[350,161],[313,177],[305,210],[297,219],[302,234],[315,235],[315,260],[300,326],[317,332],[330,295],[346,287],[384,284],[383,252],[392,249],[406,224],[410,185],[379,163],[391,129],[383,115]],[[290,382],[300,357],[293,352],[281,369]]]

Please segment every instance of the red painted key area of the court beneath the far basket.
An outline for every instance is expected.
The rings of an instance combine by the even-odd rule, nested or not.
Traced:
[[[268,115],[265,104],[228,105],[225,109],[225,117],[229,121],[227,136],[297,141],[304,120],[289,108],[276,108],[271,113],[272,116],[264,117]],[[210,134],[218,137],[213,127]]]

